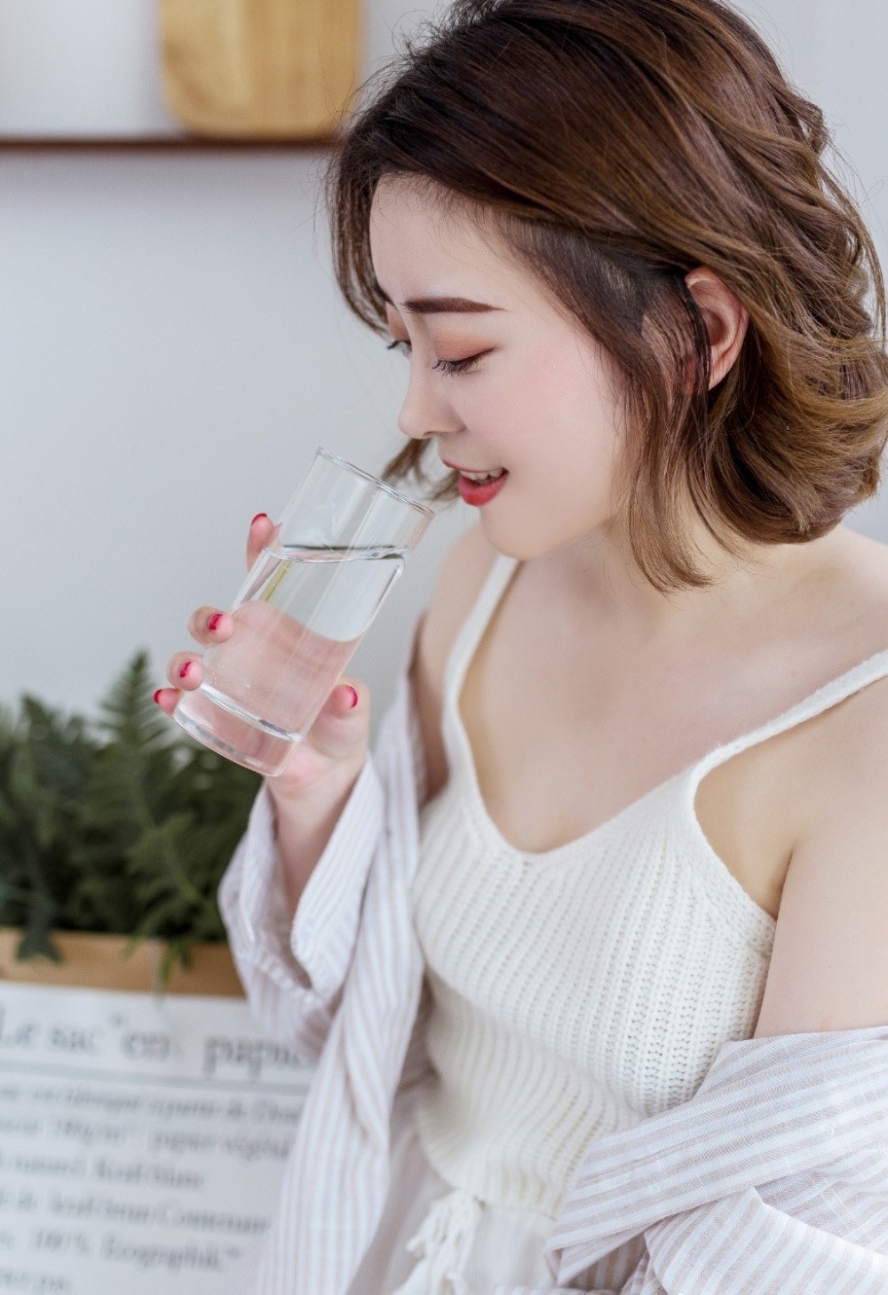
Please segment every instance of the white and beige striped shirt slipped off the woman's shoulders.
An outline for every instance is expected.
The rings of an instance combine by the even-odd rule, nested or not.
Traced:
[[[219,888],[255,1017],[317,1062],[237,1295],[346,1295],[427,1074],[414,645],[293,926],[264,789]],[[590,1145],[545,1248],[555,1286],[492,1295],[888,1295],[888,1026],[725,1042],[690,1101]]]

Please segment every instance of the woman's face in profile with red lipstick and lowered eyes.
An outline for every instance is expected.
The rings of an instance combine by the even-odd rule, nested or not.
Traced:
[[[528,559],[607,522],[620,418],[603,348],[492,228],[445,215],[406,177],[379,183],[370,250],[391,335],[409,355],[401,431],[432,438],[458,467],[507,470],[479,506],[488,541]]]

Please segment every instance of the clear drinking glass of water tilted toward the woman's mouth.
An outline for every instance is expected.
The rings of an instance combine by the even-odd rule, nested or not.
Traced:
[[[281,773],[435,517],[318,448],[232,606],[232,637],[173,717],[267,777]]]

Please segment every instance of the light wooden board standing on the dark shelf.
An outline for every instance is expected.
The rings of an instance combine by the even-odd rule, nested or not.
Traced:
[[[325,139],[355,89],[359,0],[159,0],[167,106],[211,136]]]

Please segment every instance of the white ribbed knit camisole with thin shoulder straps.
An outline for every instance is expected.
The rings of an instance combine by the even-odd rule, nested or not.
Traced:
[[[544,853],[488,817],[457,708],[518,559],[498,554],[444,677],[449,778],[419,813],[412,901],[435,1075],[417,1129],[441,1177],[480,1200],[558,1215],[593,1138],[687,1101],[748,1039],[775,921],[694,815],[705,773],[888,675],[888,650]]]

